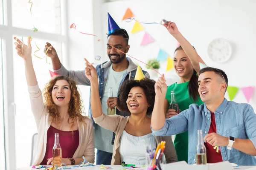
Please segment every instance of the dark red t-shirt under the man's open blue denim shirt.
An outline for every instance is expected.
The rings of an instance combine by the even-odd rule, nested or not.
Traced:
[[[211,113],[211,125],[209,128],[209,133],[217,133],[216,132],[216,123],[215,123],[215,116],[214,113]],[[209,134],[208,133],[208,134]],[[207,156],[207,163],[217,163],[222,162],[221,150],[216,152],[216,149],[213,149],[213,146],[210,145],[208,142],[204,143],[206,147],[206,156]]]

